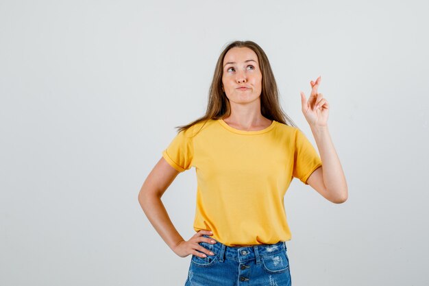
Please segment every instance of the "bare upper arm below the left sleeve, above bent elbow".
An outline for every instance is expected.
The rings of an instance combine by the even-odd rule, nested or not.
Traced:
[[[180,171],[171,167],[167,160],[161,157],[143,183],[138,198],[143,195],[156,195],[160,198],[179,173]]]

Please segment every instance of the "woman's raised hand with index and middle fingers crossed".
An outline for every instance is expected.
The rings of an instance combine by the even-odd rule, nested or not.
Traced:
[[[320,82],[320,76],[317,78],[316,82],[310,82],[311,94],[308,98],[308,102],[304,92],[301,92],[302,113],[304,113],[304,117],[306,117],[308,124],[313,127],[326,126],[328,124],[328,101],[323,98],[321,93],[317,93]]]

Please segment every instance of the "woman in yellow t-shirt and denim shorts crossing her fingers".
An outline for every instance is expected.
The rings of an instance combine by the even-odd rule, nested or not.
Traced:
[[[217,61],[206,115],[186,126],[147,176],[138,200],[149,221],[180,257],[192,255],[186,285],[291,285],[284,194],[293,178],[336,204],[347,183],[328,131],[329,104],[310,82],[302,112],[314,147],[282,111],[269,60],[252,41],[235,41]],[[161,196],[195,167],[195,235],[173,226]]]

